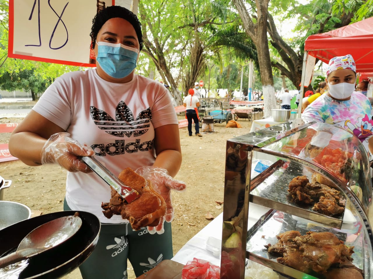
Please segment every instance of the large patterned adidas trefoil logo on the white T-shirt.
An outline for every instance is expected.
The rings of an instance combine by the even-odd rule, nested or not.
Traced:
[[[110,135],[123,138],[124,135],[131,137],[139,137],[145,134],[150,127],[151,110],[150,108],[142,110],[136,117],[128,108],[125,102],[120,101],[115,110],[115,119],[109,113],[97,109],[95,106],[90,106],[91,117],[94,124],[101,130],[104,130]]]

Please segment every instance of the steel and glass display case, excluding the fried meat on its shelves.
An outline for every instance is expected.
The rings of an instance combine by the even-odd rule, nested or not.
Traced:
[[[311,181],[314,173],[339,188],[346,203],[342,214],[327,216],[289,199],[289,182],[302,175]],[[255,215],[250,203],[270,210],[248,230],[248,217]],[[228,140],[220,278],[244,278],[247,259],[289,278],[323,278],[280,264],[267,252],[264,245],[277,243],[276,235],[289,230],[333,232],[346,246],[354,246],[353,263],[364,278],[373,278],[372,210],[367,153],[343,128],[295,119]]]

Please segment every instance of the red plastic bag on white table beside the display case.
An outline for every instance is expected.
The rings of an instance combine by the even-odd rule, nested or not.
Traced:
[[[220,267],[194,258],[183,267],[181,279],[220,279]]]

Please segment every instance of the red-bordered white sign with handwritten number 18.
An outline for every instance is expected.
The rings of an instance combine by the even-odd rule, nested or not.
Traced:
[[[9,0],[8,56],[95,67],[90,52],[92,19],[112,5],[137,13],[138,0]]]

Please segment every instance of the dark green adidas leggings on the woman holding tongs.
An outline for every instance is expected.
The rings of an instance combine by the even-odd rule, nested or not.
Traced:
[[[63,210],[71,210],[66,200]],[[138,277],[172,257],[170,223],[164,222],[163,234],[149,234],[146,227],[134,231],[129,223],[101,223],[97,246],[79,269],[83,279],[127,279],[127,259]]]

